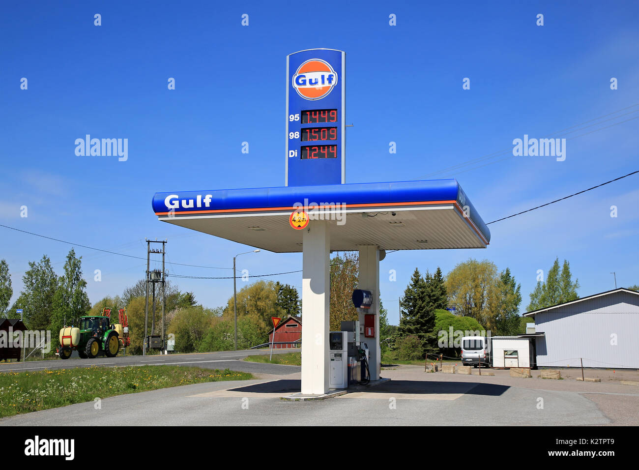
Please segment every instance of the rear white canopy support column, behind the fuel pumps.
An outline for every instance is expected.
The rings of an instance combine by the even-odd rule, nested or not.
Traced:
[[[367,344],[369,349],[371,380],[380,380],[380,250],[376,245],[360,247],[358,288],[370,290],[373,293],[373,305],[367,313],[375,314],[375,338],[366,338],[362,334],[361,340]],[[364,313],[359,314],[362,327],[364,326],[364,315]]]

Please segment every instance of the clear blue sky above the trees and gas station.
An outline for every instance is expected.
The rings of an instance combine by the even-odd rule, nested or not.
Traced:
[[[354,125],[346,182],[457,178],[489,222],[639,169],[633,1],[27,1],[3,3],[0,13],[0,223],[141,257],[145,237],[167,237],[169,262],[225,268],[171,265],[174,274],[229,276],[233,255],[250,247],[158,222],[151,197],[283,185],[286,55],[302,49],[346,51],[346,120]],[[535,24],[538,13],[544,26]],[[167,90],[169,77],[176,90]],[[470,90],[462,90],[465,77]],[[513,139],[560,130],[574,131],[553,136],[568,139],[566,161],[512,157]],[[86,134],[127,138],[128,160],[76,156],[74,141]],[[488,249],[389,254],[380,288],[390,321],[415,267],[446,273],[470,256],[511,269],[522,310],[537,270],[556,256],[571,263],[580,295],[613,288],[613,271],[619,286],[639,284],[638,182],[629,176],[491,224]],[[23,205],[28,217],[20,217]],[[0,241],[14,300],[27,262],[46,253],[60,274],[70,249],[2,227]],[[92,302],[144,276],[144,260],[76,251]],[[301,261],[263,251],[240,256],[238,269],[281,272]],[[269,279],[301,286],[301,274]],[[231,279],[178,285],[209,307],[233,294]]]

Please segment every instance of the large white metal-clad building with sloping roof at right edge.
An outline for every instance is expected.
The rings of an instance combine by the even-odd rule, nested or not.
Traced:
[[[639,292],[619,288],[530,311],[537,365],[639,368]]]

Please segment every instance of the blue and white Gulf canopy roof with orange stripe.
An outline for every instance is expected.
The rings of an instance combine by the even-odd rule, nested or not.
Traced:
[[[275,253],[302,252],[291,214],[330,221],[331,251],[485,248],[488,227],[456,180],[158,192],[160,221]]]

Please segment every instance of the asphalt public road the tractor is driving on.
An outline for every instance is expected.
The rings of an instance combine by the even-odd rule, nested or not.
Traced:
[[[291,350],[273,350],[273,354],[284,354]],[[73,369],[90,366],[149,366],[160,364],[192,365],[204,369],[226,369],[250,373],[286,374],[298,372],[298,366],[281,364],[251,363],[243,361],[247,356],[269,354],[264,350],[242,350],[224,352],[204,352],[198,354],[165,354],[154,356],[96,357],[95,359],[54,359],[52,361],[27,361],[0,364],[0,373],[6,371]]]

